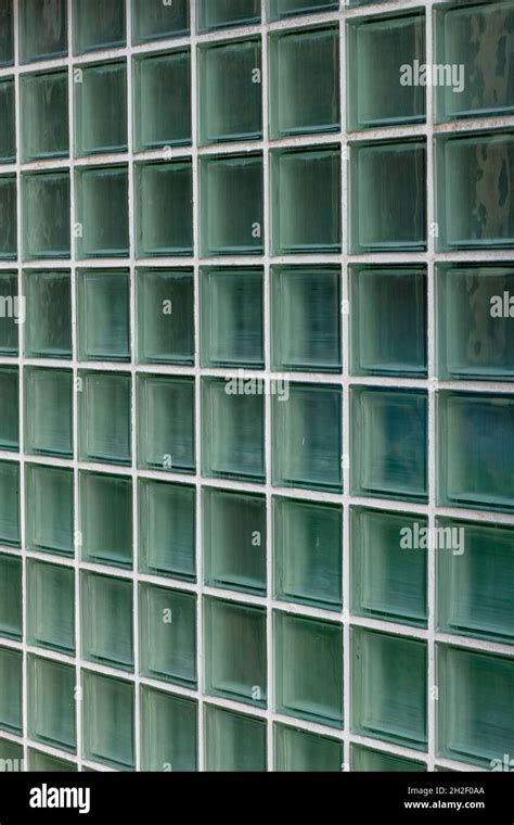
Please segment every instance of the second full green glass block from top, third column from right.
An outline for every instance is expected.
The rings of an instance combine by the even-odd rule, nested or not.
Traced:
[[[340,149],[271,152],[273,255],[340,252]]]

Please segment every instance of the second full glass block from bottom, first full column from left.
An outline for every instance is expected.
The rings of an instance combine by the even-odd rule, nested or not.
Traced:
[[[33,647],[75,653],[75,570],[29,559],[27,639]]]

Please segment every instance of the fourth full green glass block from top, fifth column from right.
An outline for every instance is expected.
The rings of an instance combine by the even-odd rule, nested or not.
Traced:
[[[193,473],[194,378],[138,376],[138,466]]]

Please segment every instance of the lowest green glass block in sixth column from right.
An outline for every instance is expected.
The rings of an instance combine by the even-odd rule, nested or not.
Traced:
[[[117,770],[133,771],[133,685],[125,680],[82,671],[82,757]]]

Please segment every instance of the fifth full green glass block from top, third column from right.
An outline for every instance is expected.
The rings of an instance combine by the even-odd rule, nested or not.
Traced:
[[[274,596],[343,607],[343,509],[273,496]]]

